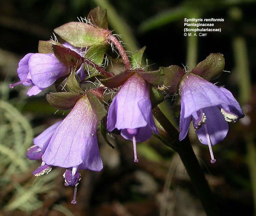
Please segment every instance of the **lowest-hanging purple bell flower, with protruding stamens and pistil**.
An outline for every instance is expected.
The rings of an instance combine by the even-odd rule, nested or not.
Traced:
[[[80,180],[78,170],[100,171],[103,168],[97,144],[97,124],[96,113],[84,95],[65,119],[47,128],[34,139],[34,144],[43,154],[43,162],[33,175],[48,174],[50,166],[70,168],[64,173],[64,178],[65,185],[75,186],[73,204],[76,203],[75,196]],[[35,150],[40,151],[38,149]]]

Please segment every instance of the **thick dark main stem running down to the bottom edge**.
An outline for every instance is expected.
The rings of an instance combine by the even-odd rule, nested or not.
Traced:
[[[190,145],[188,136],[181,142],[179,142],[178,131],[173,127],[171,122],[165,117],[159,107],[153,109],[153,115],[156,120],[162,125],[168,136],[174,140],[170,143],[170,147],[173,148],[181,157],[181,160],[187,170],[187,173],[191,179],[191,183],[202,203],[203,208],[208,216],[220,215],[219,207],[215,202],[209,185],[205,179],[202,168],[196,158],[196,155]]]

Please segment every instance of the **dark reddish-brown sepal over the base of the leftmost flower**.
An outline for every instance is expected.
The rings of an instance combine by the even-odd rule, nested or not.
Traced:
[[[56,58],[65,65],[80,68],[83,58],[75,51],[59,45],[51,46]]]

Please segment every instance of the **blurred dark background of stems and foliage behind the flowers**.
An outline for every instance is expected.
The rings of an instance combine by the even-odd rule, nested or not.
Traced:
[[[9,109],[9,114],[0,113],[3,131],[0,144],[9,149],[6,152],[0,148],[0,214],[205,215],[178,156],[156,138],[138,144],[141,159],[137,165],[132,163],[130,141],[115,136],[113,150],[98,134],[104,169],[100,173],[81,172],[77,205],[70,204],[73,189],[63,186],[65,169],[55,168],[53,174],[37,180],[31,173],[39,162],[27,162],[22,154],[19,159],[23,162],[16,161],[16,152],[25,152],[32,144],[32,135],[30,143],[23,142],[32,128],[35,136],[62,118],[62,112],[54,115],[56,110],[47,104],[44,94],[28,98],[25,86],[8,89],[9,83],[18,81],[19,60],[26,53],[37,52],[38,40],[49,40],[54,28],[78,21],[77,17],[87,16],[100,5],[107,9],[109,28],[123,36],[127,50],[147,46],[145,54],[152,70],[172,64],[188,64],[191,69],[212,52],[224,55],[225,70],[230,73],[223,72],[213,83],[219,82],[219,86],[225,85],[232,91],[246,117],[230,125],[226,139],[213,147],[216,164],[210,164],[208,148],[198,143],[193,133],[190,139],[222,214],[255,215],[255,1],[111,0],[108,3],[104,0],[0,2],[1,100],[18,111]],[[114,13],[118,19],[113,19]],[[223,18],[224,22],[213,22],[221,32],[185,37],[184,18],[197,17]],[[125,31],[121,31],[120,25]],[[167,98],[163,105],[166,115],[172,107],[171,99]],[[7,106],[2,104],[0,108]],[[21,125],[20,131],[15,124]]]

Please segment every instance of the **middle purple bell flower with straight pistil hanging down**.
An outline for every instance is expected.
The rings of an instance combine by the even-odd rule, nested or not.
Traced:
[[[136,142],[144,142],[156,129],[149,96],[149,84],[137,73],[132,74],[114,97],[108,110],[107,130],[121,130],[121,135],[133,141],[134,161],[138,162]]]

